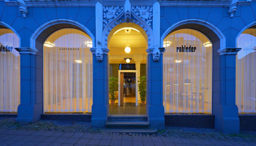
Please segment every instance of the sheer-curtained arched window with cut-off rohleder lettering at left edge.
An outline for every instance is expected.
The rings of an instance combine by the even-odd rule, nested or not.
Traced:
[[[10,52],[3,52],[6,46]],[[18,36],[10,29],[0,29],[0,112],[17,112],[20,104],[20,56],[16,47]]]

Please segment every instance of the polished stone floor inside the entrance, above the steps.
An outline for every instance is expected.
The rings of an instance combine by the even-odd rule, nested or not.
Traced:
[[[144,115],[146,114],[146,105],[138,103],[138,106],[135,106],[135,102],[125,102],[124,106],[118,106],[118,103],[115,103],[114,105],[109,104],[109,114]]]

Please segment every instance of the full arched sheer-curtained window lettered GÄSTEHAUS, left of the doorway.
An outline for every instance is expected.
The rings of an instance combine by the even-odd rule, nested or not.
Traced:
[[[91,112],[91,38],[77,29],[61,29],[44,43],[44,111]]]

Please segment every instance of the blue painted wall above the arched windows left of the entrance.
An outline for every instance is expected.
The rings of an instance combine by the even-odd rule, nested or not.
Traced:
[[[4,1],[0,1],[1,21],[18,32],[21,47],[29,47],[33,32],[44,23],[55,19],[79,22],[95,36],[95,7],[28,7],[25,19],[18,8],[19,6],[5,6]]]

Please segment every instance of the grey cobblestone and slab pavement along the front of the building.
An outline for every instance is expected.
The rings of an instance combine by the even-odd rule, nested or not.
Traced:
[[[166,127],[155,134],[101,132],[87,122],[0,118],[0,145],[255,145],[256,132],[223,134],[214,129]]]

